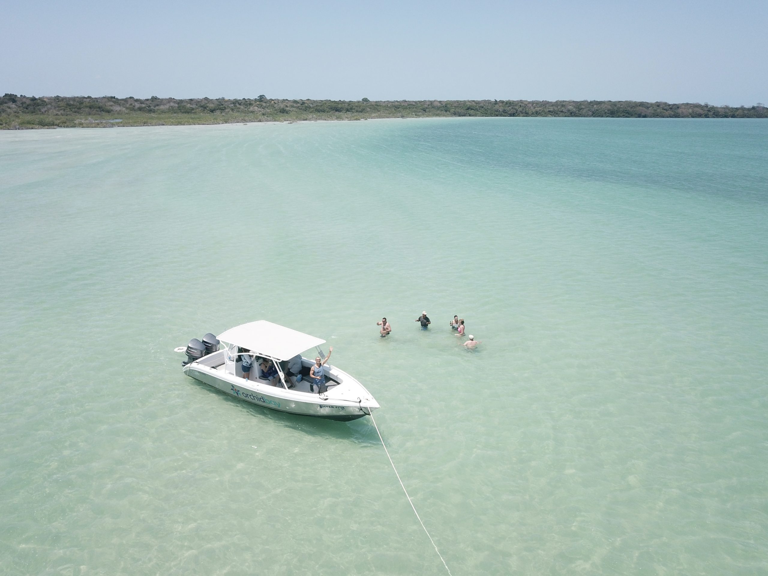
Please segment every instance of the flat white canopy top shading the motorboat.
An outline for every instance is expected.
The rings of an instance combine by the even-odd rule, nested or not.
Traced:
[[[219,334],[222,342],[247,348],[261,356],[288,360],[326,341],[267,320],[240,324]]]

